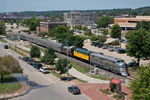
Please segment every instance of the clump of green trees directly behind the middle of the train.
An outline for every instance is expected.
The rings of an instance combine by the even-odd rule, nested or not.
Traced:
[[[50,36],[56,38],[58,42],[67,46],[76,46],[82,48],[85,37],[74,35],[68,27],[60,25],[50,31]]]

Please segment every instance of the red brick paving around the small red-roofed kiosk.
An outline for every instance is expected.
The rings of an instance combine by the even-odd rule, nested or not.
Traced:
[[[87,83],[87,84],[78,84],[76,85],[80,88],[82,93],[88,95],[92,98],[92,100],[114,100],[111,95],[102,94],[99,90],[100,89],[107,89],[109,88],[109,84],[103,83]],[[122,86],[121,91],[127,94],[127,100],[131,100],[132,94],[126,86]]]

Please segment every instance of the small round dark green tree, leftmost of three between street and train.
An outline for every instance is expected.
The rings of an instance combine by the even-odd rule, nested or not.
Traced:
[[[37,46],[32,46],[31,50],[30,50],[30,57],[31,58],[39,58],[41,55],[41,52],[40,52],[40,48],[37,47]]]

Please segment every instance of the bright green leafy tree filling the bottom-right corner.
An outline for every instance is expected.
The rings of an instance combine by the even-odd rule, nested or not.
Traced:
[[[149,100],[150,98],[150,65],[137,70],[138,78],[131,81],[132,100]]]

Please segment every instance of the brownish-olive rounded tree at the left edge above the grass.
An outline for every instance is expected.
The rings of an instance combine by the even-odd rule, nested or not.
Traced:
[[[4,75],[11,73],[20,73],[22,69],[19,62],[12,56],[4,56],[0,58],[0,76],[1,82],[3,82]]]

